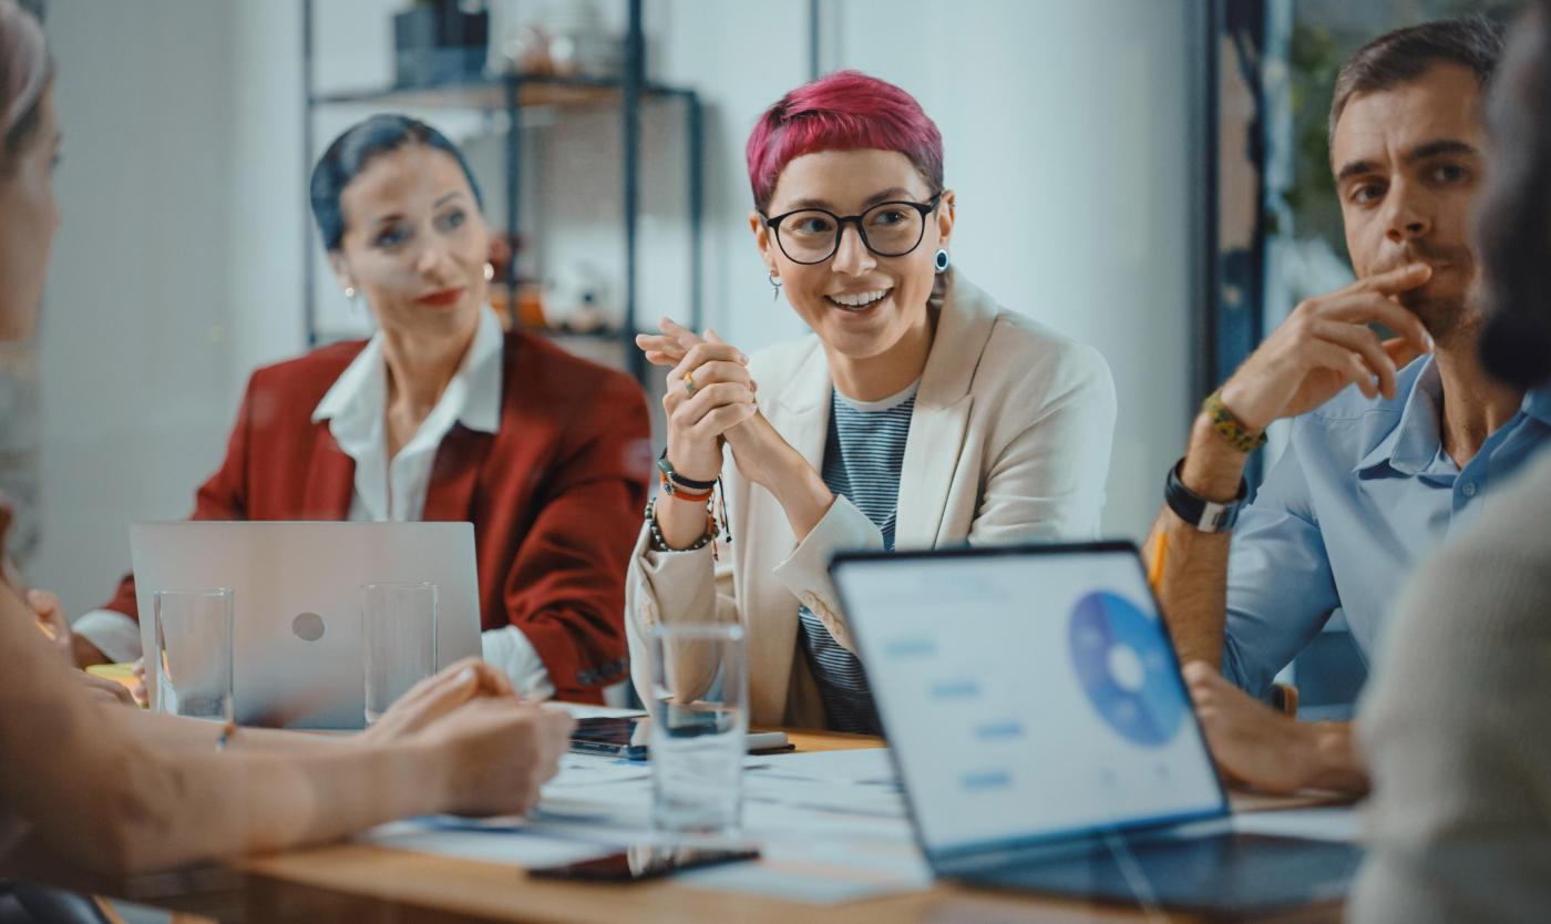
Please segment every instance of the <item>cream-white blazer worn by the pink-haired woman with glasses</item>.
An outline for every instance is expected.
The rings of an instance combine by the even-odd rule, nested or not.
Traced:
[[[819,338],[751,357],[760,406],[814,467],[824,465],[833,383]],[[1115,431],[1115,384],[1098,350],[1000,309],[955,273],[915,397],[900,471],[895,546],[1087,540],[1098,535]],[[659,622],[741,622],[751,721],[824,727],[824,704],[797,640],[807,605],[856,651],[828,580],[831,555],[883,549],[883,533],[845,498],[797,543],[776,498],[723,464],[734,541],[655,552],[642,529],[625,580],[631,674],[651,690],[648,633]],[[675,671],[710,671],[676,659]]]

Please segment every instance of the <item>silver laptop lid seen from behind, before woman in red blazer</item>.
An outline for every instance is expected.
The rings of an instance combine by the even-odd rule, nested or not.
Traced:
[[[434,583],[437,667],[479,654],[468,522],[136,522],[129,544],[146,653],[154,591],[233,588],[239,722],[364,726],[361,584]]]

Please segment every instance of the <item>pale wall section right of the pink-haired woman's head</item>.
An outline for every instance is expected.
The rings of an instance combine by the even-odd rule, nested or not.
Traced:
[[[827,64],[903,85],[943,132],[957,265],[1109,360],[1120,420],[1104,527],[1140,538],[1190,419],[1185,2],[839,11],[839,60]]]

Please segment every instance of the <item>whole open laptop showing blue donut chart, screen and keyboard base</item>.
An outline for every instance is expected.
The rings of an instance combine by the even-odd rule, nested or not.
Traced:
[[[1135,546],[855,553],[831,574],[937,874],[1231,913],[1345,895],[1356,846],[1231,829]]]

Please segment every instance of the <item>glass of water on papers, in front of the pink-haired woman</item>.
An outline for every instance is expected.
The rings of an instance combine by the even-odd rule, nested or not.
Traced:
[[[735,834],[749,732],[743,626],[651,631],[651,823],[675,834]]]

